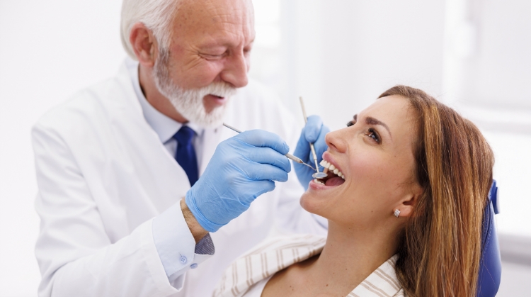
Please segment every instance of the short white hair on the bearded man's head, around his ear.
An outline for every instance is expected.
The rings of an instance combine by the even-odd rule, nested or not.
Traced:
[[[129,41],[131,28],[135,23],[144,25],[153,31],[159,48],[169,47],[171,39],[171,21],[177,4],[182,0],[123,0],[120,37],[122,45],[132,59],[137,60]]]

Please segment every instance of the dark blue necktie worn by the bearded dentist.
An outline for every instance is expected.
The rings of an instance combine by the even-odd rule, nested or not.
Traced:
[[[195,157],[195,150],[192,144],[194,135],[195,132],[185,125],[173,135],[173,139],[177,140],[175,159],[177,163],[183,167],[186,175],[188,175],[190,186],[193,186],[195,181],[198,181],[199,179],[198,158]]]

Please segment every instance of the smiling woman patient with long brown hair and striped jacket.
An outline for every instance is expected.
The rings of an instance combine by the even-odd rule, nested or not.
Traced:
[[[214,296],[475,296],[493,167],[476,126],[395,86],[326,142],[329,176],[300,203],[328,237],[264,242]]]

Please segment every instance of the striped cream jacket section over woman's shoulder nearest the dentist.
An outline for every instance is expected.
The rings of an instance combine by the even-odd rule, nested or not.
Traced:
[[[213,296],[243,296],[254,284],[297,262],[319,254],[326,237],[271,237],[236,259],[224,271]]]

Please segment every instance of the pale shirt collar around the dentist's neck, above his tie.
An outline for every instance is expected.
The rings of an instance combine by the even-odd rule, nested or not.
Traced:
[[[138,77],[138,67],[139,62],[132,60],[130,57],[127,57],[125,60],[125,65],[127,65],[127,71],[131,77],[133,88],[135,89],[135,94],[137,94],[138,101],[140,106],[142,106],[142,113],[144,113],[144,118],[146,118],[147,123],[152,127],[152,129],[159,135],[159,139],[162,143],[166,143],[181,127],[182,123],[165,116],[160,111],[157,111],[146,99],[142,89],[140,89],[140,82]],[[203,133],[202,128],[194,123],[185,123],[188,127],[194,130],[196,136],[201,136]]]

